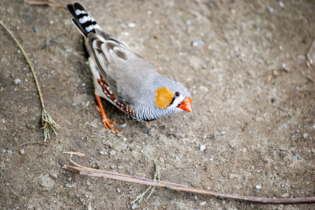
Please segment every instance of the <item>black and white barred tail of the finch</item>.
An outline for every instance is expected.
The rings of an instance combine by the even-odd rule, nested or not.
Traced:
[[[87,37],[90,32],[95,33],[95,29],[100,29],[95,19],[86,11],[82,4],[78,2],[67,4],[67,9],[73,16],[71,19],[72,23],[83,36]]]

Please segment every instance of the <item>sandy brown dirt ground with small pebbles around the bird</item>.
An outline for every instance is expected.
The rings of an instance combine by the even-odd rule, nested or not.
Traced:
[[[146,189],[65,171],[69,155],[63,151],[84,153],[73,157],[84,166],[147,178],[155,159],[161,180],[218,192],[315,195],[315,71],[305,58],[315,37],[314,1],[81,3],[103,30],[184,84],[193,111],[148,127],[104,100],[123,137],[107,133],[71,15],[63,8],[0,1],[1,19],[31,58],[46,108],[60,125],[48,147],[19,146],[43,141],[41,107],[23,54],[1,27],[2,209],[130,209]],[[156,189],[137,206],[163,208],[315,209],[315,203],[258,204]]]

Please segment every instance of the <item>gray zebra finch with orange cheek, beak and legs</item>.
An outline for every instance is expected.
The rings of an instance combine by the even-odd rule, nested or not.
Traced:
[[[78,2],[67,4],[72,24],[81,32],[93,74],[96,110],[108,132],[120,133],[107,118],[100,98],[104,98],[138,121],[157,120],[185,110],[192,112],[188,90],[178,81],[161,76],[124,41],[104,32]]]

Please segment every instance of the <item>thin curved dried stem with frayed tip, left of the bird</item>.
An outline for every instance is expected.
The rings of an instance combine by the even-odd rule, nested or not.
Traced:
[[[19,48],[21,49],[26,61],[28,62],[28,65],[30,66],[31,72],[33,74],[35,83],[36,83],[36,87],[38,90],[38,95],[39,95],[39,100],[41,102],[42,105],[42,129],[43,129],[43,133],[44,133],[44,142],[46,141],[47,138],[49,137],[49,128],[54,132],[54,134],[57,136],[57,133],[55,131],[55,129],[59,128],[59,125],[56,124],[56,122],[46,113],[46,109],[44,106],[44,101],[43,101],[43,96],[42,96],[42,92],[39,88],[39,84],[37,81],[37,77],[35,75],[34,69],[31,65],[30,60],[28,59],[26,52],[24,51],[23,47],[21,46],[20,42],[15,38],[15,36],[12,34],[12,32],[9,30],[9,28],[0,20],[0,24],[5,28],[5,30],[8,31],[8,33],[11,35],[11,37],[14,39],[15,43],[19,46]]]

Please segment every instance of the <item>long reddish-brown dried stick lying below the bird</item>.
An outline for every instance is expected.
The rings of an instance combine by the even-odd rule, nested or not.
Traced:
[[[155,186],[155,187],[163,187],[176,191],[185,191],[191,193],[199,193],[209,196],[215,196],[220,198],[229,198],[236,199],[241,201],[250,201],[250,202],[258,202],[258,203],[306,203],[306,202],[315,202],[315,197],[304,197],[304,198],[263,198],[263,197],[251,197],[251,196],[238,196],[231,195],[226,193],[208,191],[198,188],[193,188],[185,185],[180,185],[172,182],[160,181],[159,183],[153,182],[152,179],[146,179],[144,177],[139,176],[130,176],[125,174],[119,174],[111,171],[97,170],[88,167],[81,166],[70,159],[70,161],[75,164],[77,167],[73,167],[71,165],[64,165],[62,168],[69,170],[73,173],[89,176],[89,177],[100,177],[104,179],[114,179],[121,180],[130,183],[136,183],[141,185]]]

